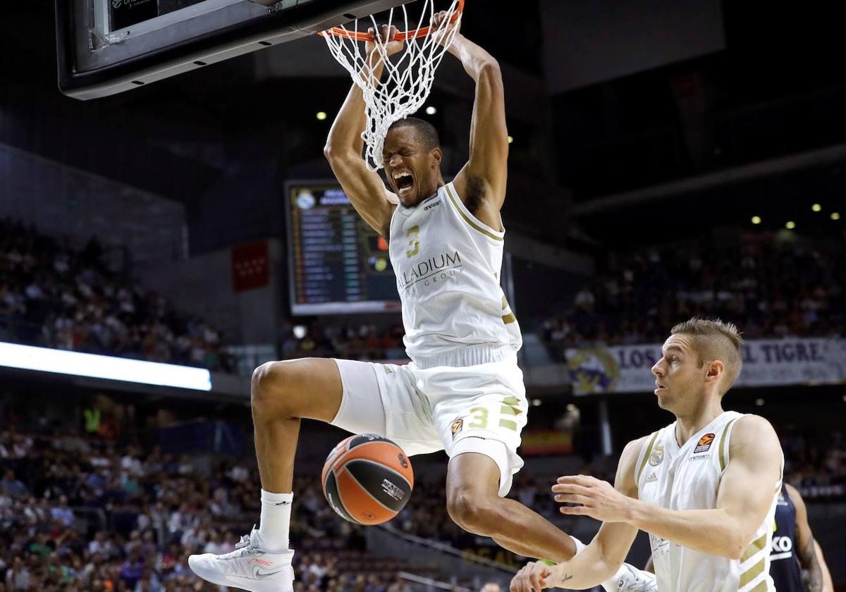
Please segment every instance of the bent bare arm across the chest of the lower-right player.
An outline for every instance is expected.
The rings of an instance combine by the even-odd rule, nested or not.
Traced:
[[[756,415],[738,419],[729,462],[712,510],[668,510],[624,496],[607,482],[577,475],[553,488],[561,512],[626,522],[689,549],[739,559],[766,518],[781,479],[781,447],[772,425]]]

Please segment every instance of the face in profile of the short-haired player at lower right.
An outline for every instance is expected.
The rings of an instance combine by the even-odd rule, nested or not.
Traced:
[[[689,336],[671,335],[662,348],[662,358],[652,366],[658,407],[673,411],[678,403],[699,397],[705,390],[704,372]]]

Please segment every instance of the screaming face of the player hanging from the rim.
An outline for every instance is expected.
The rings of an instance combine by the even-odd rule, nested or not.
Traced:
[[[424,150],[411,127],[392,129],[385,137],[382,160],[387,183],[403,206],[414,206],[437,191],[437,149]]]

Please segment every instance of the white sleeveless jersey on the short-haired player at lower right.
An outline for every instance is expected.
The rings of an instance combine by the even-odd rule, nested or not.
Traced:
[[[676,425],[652,434],[640,450],[634,479],[644,502],[671,510],[717,507],[717,490],[728,465],[728,442],[735,411],[719,414],[679,447]],[[782,458],[783,467],[783,458]],[[660,592],[773,592],[770,545],[781,479],[772,483],[772,505],[761,526],[737,561],[649,535]]]

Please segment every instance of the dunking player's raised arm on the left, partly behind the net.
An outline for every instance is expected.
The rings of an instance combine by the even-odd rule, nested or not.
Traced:
[[[373,35],[372,29],[368,32]],[[393,40],[396,33],[396,27],[382,27],[384,38]],[[387,56],[392,56],[402,48],[403,41],[388,41],[385,45]],[[376,43],[367,42],[365,52],[373,65],[372,84],[378,85],[385,64],[376,51]],[[387,227],[397,198],[385,189],[382,178],[367,168],[361,156],[364,149],[361,133],[365,129],[366,121],[364,95],[357,85],[353,85],[332,123],[323,154],[326,155],[332,172],[338,178],[355,211],[359,212],[360,217],[377,233],[387,238]]]

